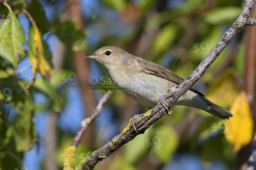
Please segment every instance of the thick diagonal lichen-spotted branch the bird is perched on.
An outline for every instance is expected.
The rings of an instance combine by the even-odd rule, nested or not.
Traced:
[[[198,65],[198,67],[191,73],[179,86],[172,85],[170,87],[170,93],[166,96],[165,102],[171,107],[178,98],[180,98],[193,84],[202,77],[207,68],[214,62],[224,48],[230,43],[230,41],[238,34],[238,32],[246,25],[255,25],[255,19],[250,18],[250,13],[253,9],[256,0],[244,0],[244,8],[239,15],[238,19],[232,24],[232,26],[225,32],[221,40],[215,45],[215,47],[208,53],[204,60]],[[149,128],[154,122],[160,119],[166,111],[163,107],[158,108],[155,106],[152,110],[149,110],[146,116],[140,120],[137,126],[138,132],[142,133]],[[123,132],[111,141],[105,144],[102,148],[95,151],[88,156],[82,165],[77,166],[76,169],[93,169],[94,166],[102,159],[106,159],[114,151],[120,148],[125,143],[135,138],[138,134],[134,129],[130,129],[130,122]]]

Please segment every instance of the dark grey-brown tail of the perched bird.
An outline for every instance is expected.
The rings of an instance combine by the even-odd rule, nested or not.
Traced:
[[[205,109],[205,110],[203,109],[204,111],[207,111],[207,112],[211,113],[212,115],[214,115],[214,116],[216,116],[218,118],[222,118],[222,119],[228,119],[229,117],[233,116],[233,114],[229,110],[227,110],[227,109],[225,109],[225,108],[223,108],[221,106],[218,106],[215,103],[212,103],[211,101],[207,100],[203,96],[200,96],[200,97],[210,107],[210,109],[209,109],[209,107],[208,107],[208,109]]]

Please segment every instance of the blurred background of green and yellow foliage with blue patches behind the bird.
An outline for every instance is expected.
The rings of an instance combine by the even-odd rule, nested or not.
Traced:
[[[102,66],[84,56],[118,46],[186,78],[237,19],[243,4],[0,1],[0,169],[62,169],[61,154],[80,122],[105,90],[115,89],[113,83],[102,84],[101,78],[109,78]],[[243,169],[254,134],[255,39],[254,27],[245,27],[195,84],[206,98],[230,109],[230,120],[174,106],[171,117],[158,120],[95,169]],[[89,83],[91,76],[96,84]],[[87,129],[73,166],[121,133],[134,114],[145,111],[125,94],[114,93]]]

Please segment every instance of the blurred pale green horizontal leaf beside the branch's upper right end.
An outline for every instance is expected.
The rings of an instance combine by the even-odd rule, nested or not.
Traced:
[[[240,15],[241,10],[242,9],[240,7],[234,6],[214,8],[205,14],[204,21],[213,25],[221,24],[225,21],[233,22]]]

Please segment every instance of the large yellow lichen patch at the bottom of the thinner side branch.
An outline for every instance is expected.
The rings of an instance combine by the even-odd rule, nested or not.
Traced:
[[[73,170],[71,166],[73,158],[75,157],[75,146],[69,146],[62,154],[63,166],[65,170]]]

